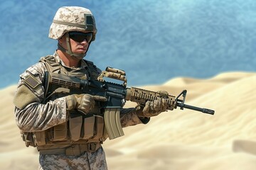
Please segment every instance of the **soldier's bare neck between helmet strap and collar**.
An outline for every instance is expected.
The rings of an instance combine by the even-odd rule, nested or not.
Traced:
[[[57,53],[61,60],[65,63],[68,67],[80,67],[80,60],[76,57],[72,57],[65,52],[57,50]]]

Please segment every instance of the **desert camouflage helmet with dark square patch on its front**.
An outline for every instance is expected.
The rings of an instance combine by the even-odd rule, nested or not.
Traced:
[[[92,41],[97,33],[92,12],[80,6],[63,6],[58,9],[50,26],[49,38],[58,40],[70,31],[92,32]]]

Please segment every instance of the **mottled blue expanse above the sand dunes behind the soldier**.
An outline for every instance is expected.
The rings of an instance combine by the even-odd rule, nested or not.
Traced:
[[[53,54],[48,29],[60,6],[91,9],[98,33],[86,58],[126,71],[128,86],[256,71],[255,0],[1,0],[0,88]]]

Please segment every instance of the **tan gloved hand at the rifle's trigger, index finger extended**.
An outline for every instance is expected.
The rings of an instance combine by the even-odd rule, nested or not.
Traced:
[[[95,106],[96,101],[107,101],[107,98],[102,96],[92,96],[90,94],[72,94],[66,96],[67,110],[78,109],[82,113],[89,113]]]

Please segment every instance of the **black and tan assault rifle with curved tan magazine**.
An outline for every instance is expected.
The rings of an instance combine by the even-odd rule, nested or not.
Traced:
[[[124,106],[125,101],[132,101],[144,105],[146,101],[154,101],[156,98],[166,98],[167,110],[174,108],[188,108],[194,111],[200,111],[213,115],[214,111],[207,108],[198,108],[185,104],[186,93],[184,90],[177,97],[163,95],[155,91],[147,91],[136,87],[127,88],[127,79],[125,72],[120,69],[107,67],[96,79],[78,79],[77,77],[68,77],[63,74],[46,73],[48,84],[59,86],[54,93],[70,93],[70,89],[80,89],[82,94],[91,94],[104,96],[107,101],[104,103],[104,120],[107,133],[110,140],[124,135],[120,123],[119,111]],[[123,84],[117,84],[104,80],[104,77],[123,81]]]

